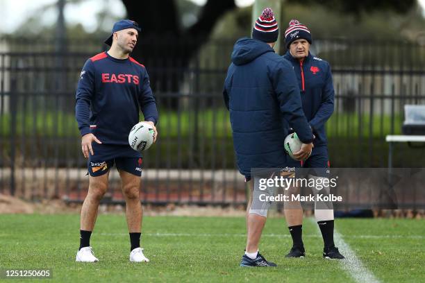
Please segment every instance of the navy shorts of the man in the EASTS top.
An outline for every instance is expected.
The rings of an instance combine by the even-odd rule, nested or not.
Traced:
[[[88,158],[88,173],[97,177],[108,173],[115,164],[118,170],[133,175],[142,175],[142,155],[130,146],[115,146],[106,144],[92,144],[94,155]]]

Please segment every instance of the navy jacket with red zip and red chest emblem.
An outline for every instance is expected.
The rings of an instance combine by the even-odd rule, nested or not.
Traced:
[[[335,96],[331,66],[311,53],[308,53],[303,62],[293,58],[289,51],[283,58],[291,62],[297,75],[303,111],[316,136],[314,144],[326,145],[325,123],[333,113]]]

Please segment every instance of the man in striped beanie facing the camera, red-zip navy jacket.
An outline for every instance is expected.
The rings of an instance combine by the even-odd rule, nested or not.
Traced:
[[[310,168],[309,178],[326,178],[329,166],[328,147],[325,123],[333,113],[334,90],[331,66],[328,62],[315,57],[309,51],[313,43],[307,26],[292,19],[285,31],[285,44],[288,52],[283,58],[294,67],[299,88],[303,112],[315,135],[314,148],[305,162],[294,162],[292,166]],[[322,193],[329,194],[328,187]],[[316,194],[319,190],[313,189]],[[294,204],[292,204],[294,205]],[[294,208],[299,207],[299,208]],[[285,209],[285,218],[292,236],[293,245],[286,257],[304,257],[302,241],[303,209],[295,204]],[[327,259],[343,259],[333,243],[333,207],[331,203],[315,202],[315,218],[324,240],[323,257]]]

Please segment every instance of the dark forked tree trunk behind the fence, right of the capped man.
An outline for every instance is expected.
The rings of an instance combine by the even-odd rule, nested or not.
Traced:
[[[197,22],[183,28],[176,1],[122,0],[129,19],[138,22],[142,28],[138,46],[133,57],[144,64],[156,67],[158,61],[167,67],[188,67],[191,58],[208,40],[217,20],[228,10],[233,10],[234,0],[208,0],[202,7]],[[151,73],[153,85],[161,89],[178,89],[182,72],[176,71],[173,78],[160,80]]]

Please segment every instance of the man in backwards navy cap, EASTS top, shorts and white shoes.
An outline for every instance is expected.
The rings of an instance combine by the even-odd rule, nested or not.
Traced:
[[[130,234],[130,261],[149,261],[140,248],[142,206],[139,189],[142,155],[128,144],[128,133],[139,122],[139,110],[153,130],[158,121],[149,76],[142,64],[129,56],[138,41],[136,22],[116,22],[107,52],[85,62],[76,91],[76,120],[81,132],[81,151],[88,158],[89,189],[81,207],[80,248],[76,261],[96,262],[90,235],[97,209],[108,189],[109,169],[115,163],[126,200],[126,219]]]

